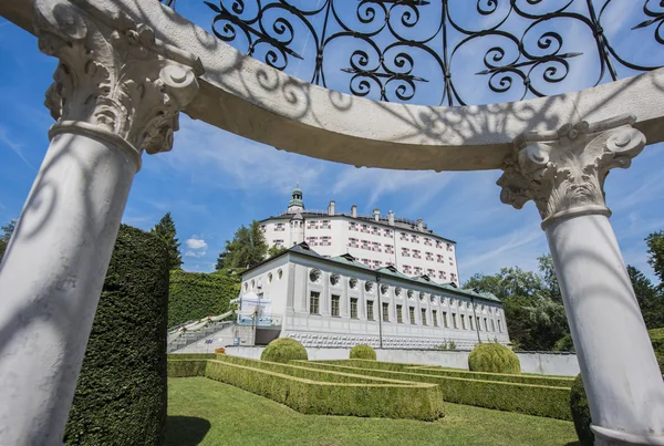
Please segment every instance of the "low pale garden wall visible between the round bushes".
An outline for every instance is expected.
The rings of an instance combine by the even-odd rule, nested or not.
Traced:
[[[259,360],[263,346],[228,346],[227,354]],[[351,349],[307,349],[310,361],[347,360]],[[176,352],[179,353],[179,352]],[[377,361],[404,364],[440,365],[468,370],[468,354],[460,351],[386,350],[376,349]],[[553,352],[517,352],[522,373],[539,375],[577,376],[579,362],[575,354]]]

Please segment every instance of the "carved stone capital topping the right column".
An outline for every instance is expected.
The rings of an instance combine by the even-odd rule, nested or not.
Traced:
[[[497,183],[502,188],[500,200],[517,209],[533,200],[542,228],[570,215],[610,216],[604,179],[614,167],[630,167],[645,145],[645,136],[632,127],[634,122],[623,115],[520,135]]]

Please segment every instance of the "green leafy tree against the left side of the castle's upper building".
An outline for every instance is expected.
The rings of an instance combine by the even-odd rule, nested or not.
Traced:
[[[260,228],[260,221],[253,220],[236,230],[232,240],[226,240],[226,248],[217,259],[216,269],[246,268],[266,259],[268,242]]]

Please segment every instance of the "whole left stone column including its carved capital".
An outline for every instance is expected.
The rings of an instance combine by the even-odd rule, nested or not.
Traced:
[[[51,145],[0,266],[0,444],[61,445],[141,154],[168,151],[198,91],[196,59],[152,29],[37,0],[40,50],[60,59]]]

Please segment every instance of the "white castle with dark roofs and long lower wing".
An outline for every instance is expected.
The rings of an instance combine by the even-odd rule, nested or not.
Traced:
[[[304,209],[261,221],[269,245],[286,251],[242,273],[238,322],[252,342],[294,338],[304,346],[364,343],[395,349],[471,349],[509,343],[505,311],[491,293],[459,288],[455,242],[423,221]]]

